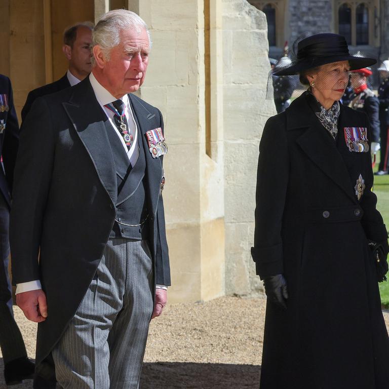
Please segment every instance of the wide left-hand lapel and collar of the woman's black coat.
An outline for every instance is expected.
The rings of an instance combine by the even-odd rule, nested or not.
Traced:
[[[297,104],[302,106],[292,110],[288,115],[288,129],[306,127],[296,142],[307,157],[320,168],[331,180],[333,180],[355,203],[357,202],[343,158],[339,153],[336,142],[320,124],[314,111],[309,107],[304,96],[301,96]],[[297,115],[294,112],[306,112],[305,115]],[[288,112],[290,112],[288,110]],[[342,136],[340,131],[337,136]]]

